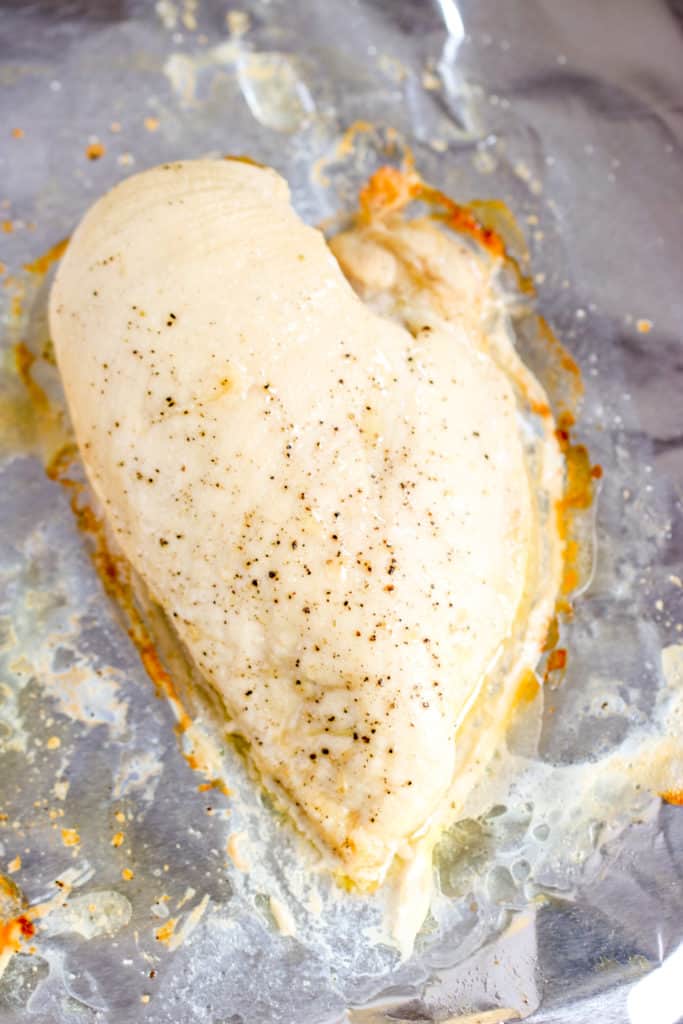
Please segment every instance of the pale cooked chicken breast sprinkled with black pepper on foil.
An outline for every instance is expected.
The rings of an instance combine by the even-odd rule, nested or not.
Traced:
[[[561,473],[485,259],[391,219],[335,249],[368,301],[273,171],[165,165],[87,213],[50,324],[124,554],[369,888],[444,817],[468,712],[538,656]]]

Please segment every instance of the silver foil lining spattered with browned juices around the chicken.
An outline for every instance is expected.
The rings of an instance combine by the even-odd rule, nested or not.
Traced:
[[[3,1020],[683,1016],[659,968],[683,941],[683,812],[646,784],[657,737],[680,738],[678,30],[675,5],[624,0],[4,8],[0,914],[43,909],[4,956]],[[373,942],[378,902],[312,871],[231,748],[230,795],[183,758],[45,474],[17,352],[58,410],[49,272],[23,268],[123,176],[245,154],[329,223],[409,152],[524,229],[539,309],[584,375],[575,436],[604,476],[566,670],[441,844],[401,965]]]

